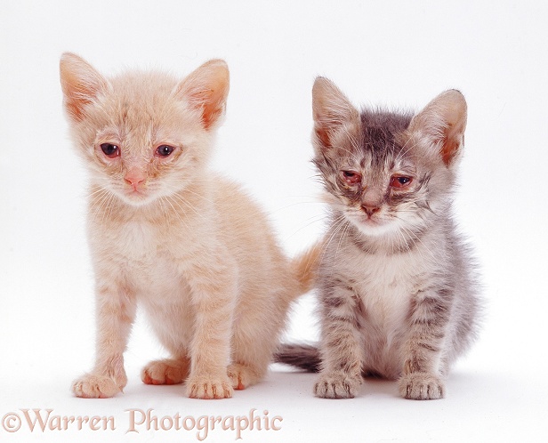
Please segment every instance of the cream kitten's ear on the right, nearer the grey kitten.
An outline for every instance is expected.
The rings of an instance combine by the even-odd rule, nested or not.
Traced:
[[[209,60],[189,74],[176,88],[176,95],[201,112],[205,129],[224,114],[230,89],[229,67],[224,60]]]

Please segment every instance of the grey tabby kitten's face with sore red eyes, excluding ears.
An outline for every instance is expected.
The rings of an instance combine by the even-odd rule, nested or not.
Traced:
[[[316,164],[335,207],[361,232],[370,236],[397,230],[418,229],[421,214],[427,211],[428,173],[421,171],[399,145],[392,131],[407,128],[409,117],[364,113],[354,133],[334,138]],[[392,129],[392,128],[391,128]]]

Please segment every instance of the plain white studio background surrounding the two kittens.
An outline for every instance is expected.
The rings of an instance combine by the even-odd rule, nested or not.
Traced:
[[[283,417],[244,441],[546,441],[548,18],[542,1],[93,2],[0,5],[0,417],[21,408],[114,416],[116,431],[31,432],[2,441],[197,441],[195,431],[125,433],[126,409],[157,415]],[[311,395],[315,375],[273,366],[233,399],[187,399],[143,385],[162,353],[138,322],[129,383],[114,399],[75,399],[93,363],[93,276],[85,242],[85,171],[68,140],[58,64],[77,52],[106,74],[164,68],[183,77],[228,61],[231,90],[214,169],[270,214],[287,254],[323,230],[310,165],[310,89],[334,80],[357,105],[418,109],[447,88],[469,104],[455,207],[481,263],[488,310],[479,342],[447,381],[447,399],[399,399],[367,381],[356,399]],[[289,338],[314,340],[312,295]],[[213,431],[205,441],[235,441]]]

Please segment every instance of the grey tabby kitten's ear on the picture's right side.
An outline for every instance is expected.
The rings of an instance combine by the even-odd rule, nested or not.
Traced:
[[[455,89],[440,93],[419,112],[409,124],[407,132],[423,134],[446,165],[451,165],[464,143],[466,129],[466,101]]]

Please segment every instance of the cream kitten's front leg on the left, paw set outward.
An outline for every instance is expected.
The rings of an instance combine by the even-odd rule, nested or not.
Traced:
[[[123,391],[127,383],[124,351],[135,317],[135,302],[117,286],[97,291],[95,366],[72,384],[77,397],[106,399]]]

